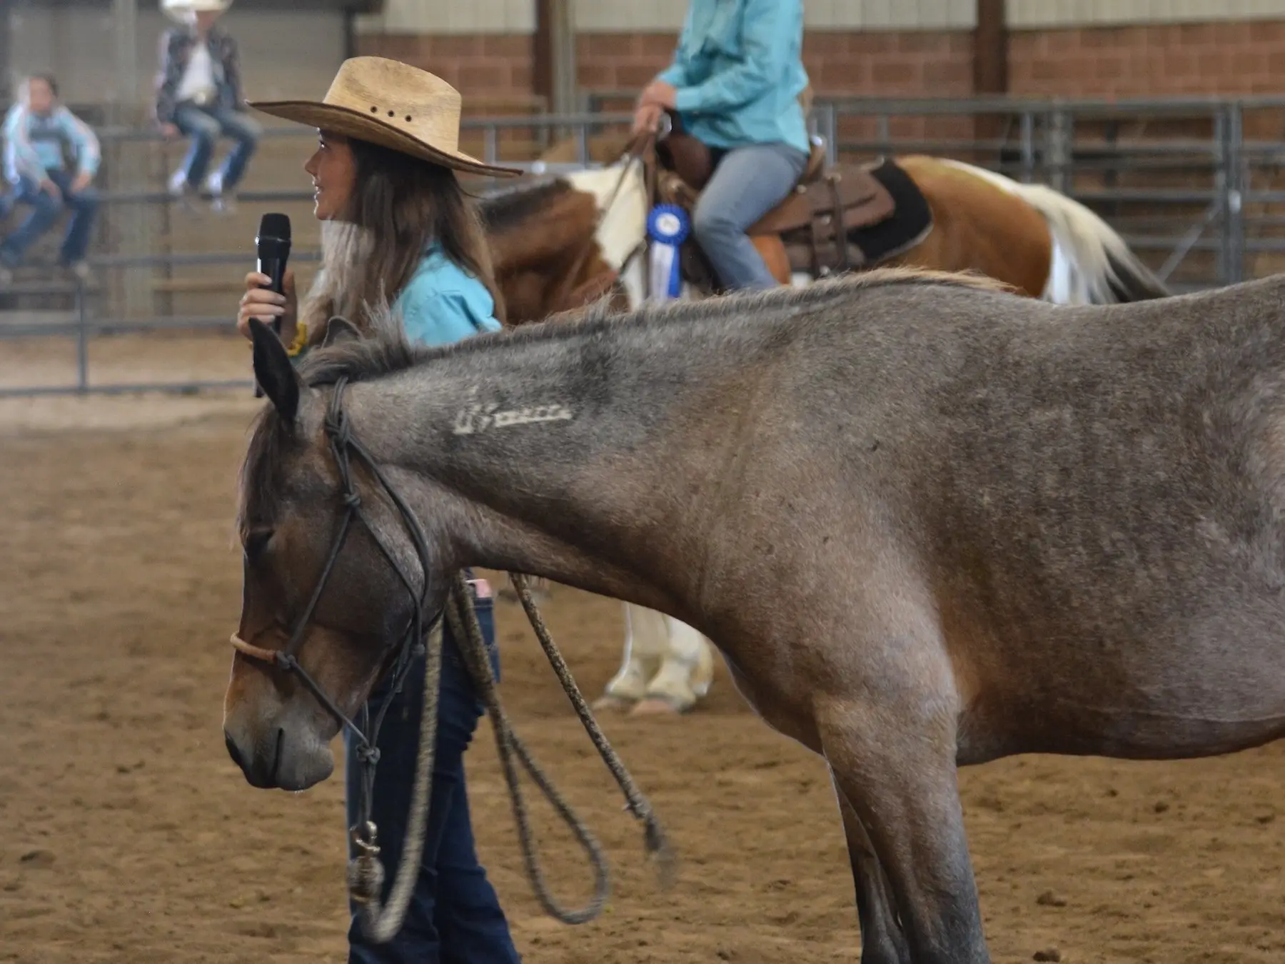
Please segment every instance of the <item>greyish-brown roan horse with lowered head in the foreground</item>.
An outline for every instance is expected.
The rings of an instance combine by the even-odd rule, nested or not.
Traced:
[[[378,542],[351,531],[297,650],[342,711],[464,566],[673,614],[828,762],[862,961],[980,964],[959,766],[1285,734],[1282,305],[1285,278],[1060,307],[880,270],[430,350],[337,320],[298,370],[254,323],[238,634],[280,647],[320,593],[328,446],[360,441],[430,563],[353,461]],[[256,787],[333,770],[330,712],[242,652],[224,727]]]

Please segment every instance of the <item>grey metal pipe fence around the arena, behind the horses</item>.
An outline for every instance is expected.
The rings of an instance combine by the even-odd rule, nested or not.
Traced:
[[[592,165],[596,134],[623,132],[635,91],[600,91],[586,109],[564,116],[466,118],[465,135],[481,140],[481,157],[533,174],[556,174]],[[614,109],[608,109],[614,105]],[[869,99],[817,98],[810,116],[813,134],[828,144],[831,161],[885,153],[956,157],[1038,181],[1088,204],[1169,280],[1176,290],[1231,284],[1285,266],[1285,96],[1183,98],[1136,100]],[[551,136],[576,143],[577,161],[540,165],[531,156],[506,157],[517,132],[531,144]],[[1246,135],[1249,131],[1249,135]],[[154,131],[99,129],[105,150],[159,141]],[[303,127],[269,127],[265,139],[312,138]],[[123,157],[123,154],[120,154]],[[610,158],[598,158],[604,161]],[[136,174],[136,172],[135,172]],[[170,195],[137,177],[100,197],[114,210],[143,211]],[[481,181],[481,186],[488,183]],[[243,204],[305,202],[306,190],[261,189],[240,194]],[[128,249],[95,256],[100,272],[146,271],[176,266],[244,265],[245,251],[158,253]],[[292,262],[315,262],[319,252],[296,249]],[[76,380],[59,386],[5,386],[0,396],[204,391],[249,388],[251,382],[185,380],[172,384],[102,384],[91,375],[94,338],[125,332],[224,328],[226,316],[202,312],[130,316],[112,310],[107,285],[22,285],[0,290],[0,306],[32,296],[60,299],[62,316],[5,321],[0,310],[0,351],[5,339],[72,338]]]

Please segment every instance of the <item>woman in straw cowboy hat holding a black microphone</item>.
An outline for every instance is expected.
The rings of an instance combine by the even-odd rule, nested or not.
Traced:
[[[514,175],[459,149],[460,95],[443,80],[396,60],[346,60],[324,100],[252,103],[265,113],[316,127],[320,145],[303,168],[312,176],[315,212],[323,224],[321,270],[297,305],[293,272],[284,294],[261,288],[265,275],[245,276],[238,326],[249,319],[281,320],[281,339],[306,351],[342,315],[361,328],[369,306],[393,299],[412,342],[442,344],[499,329],[500,299],[481,222],[456,171]],[[484,584],[478,584],[484,585]],[[478,618],[499,674],[488,591],[477,594]],[[418,659],[423,661],[420,648]],[[423,667],[411,668],[379,733],[371,819],[380,860],[396,868],[415,774]],[[418,685],[416,685],[418,683]],[[387,681],[370,695],[378,710]],[[473,846],[464,751],[483,712],[451,639],[443,634],[433,793],[420,875],[406,922],[387,945],[365,942],[360,922],[348,931],[351,964],[519,960],[508,923]],[[353,761],[352,745],[346,754]],[[353,761],[355,762],[355,761]],[[359,771],[348,766],[348,824],[356,821]],[[384,900],[393,882],[388,873]]]

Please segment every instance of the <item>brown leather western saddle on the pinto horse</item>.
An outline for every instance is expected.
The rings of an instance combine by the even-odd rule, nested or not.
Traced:
[[[675,114],[669,114],[667,126],[655,143],[655,201],[677,204],[690,215],[713,174],[713,156],[705,144],[681,130]],[[779,239],[789,270],[811,271],[813,278],[867,266],[869,258],[852,243],[849,233],[885,221],[896,211],[892,193],[871,174],[880,163],[830,166],[825,143],[812,138],[807,167],[790,194],[747,234],[761,252]],[[684,248],[687,280],[716,290],[714,274],[699,245]]]

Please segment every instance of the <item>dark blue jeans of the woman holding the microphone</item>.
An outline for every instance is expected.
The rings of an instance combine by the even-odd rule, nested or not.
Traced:
[[[495,609],[491,599],[475,600],[482,638],[491,654],[491,670],[499,680],[500,656],[495,644]],[[397,865],[401,861],[415,760],[419,753],[419,725],[424,712],[424,648],[420,645],[400,695],[384,717],[379,739],[379,766],[371,819],[379,829],[379,860],[384,865],[384,893],[388,900]],[[370,713],[388,694],[386,679],[370,695]],[[451,638],[442,634],[442,683],[437,706],[437,752],[433,760],[433,792],[424,857],[419,879],[401,932],[386,945],[371,945],[362,933],[357,907],[352,906],[348,928],[348,964],[518,964],[522,959],[509,936],[509,923],[495,888],[487,880],[473,844],[473,821],[464,779],[464,751],[468,749],[482,702]],[[347,747],[348,825],[356,823],[360,767],[356,765],[351,735]],[[351,848],[350,848],[351,856]]]

